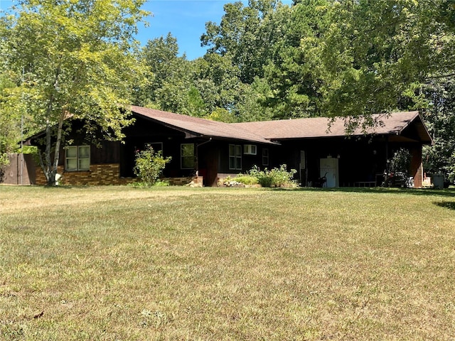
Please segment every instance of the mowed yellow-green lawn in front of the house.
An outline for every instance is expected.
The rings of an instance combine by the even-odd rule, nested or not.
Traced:
[[[2,186],[0,340],[455,340],[455,191]]]

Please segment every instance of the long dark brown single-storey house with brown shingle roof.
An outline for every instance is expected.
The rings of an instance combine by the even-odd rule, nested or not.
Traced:
[[[417,112],[392,114],[378,132],[344,135],[343,121],[327,130],[328,119],[224,124],[153,109],[133,107],[135,122],[124,129],[124,141],[92,143],[82,122],[71,121],[72,132],[65,136],[72,146],[90,145],[90,170],[65,171],[65,142],[60,151],[62,183],[74,185],[124,184],[134,180],[137,151],[151,144],[171,162],[164,177],[178,183],[196,181],[213,186],[220,179],[245,173],[253,166],[272,169],[283,164],[297,171],[301,185],[314,185],[326,170],[326,162],[336,164],[336,186],[380,185],[382,174],[399,148],[407,148],[412,161],[410,176],[416,187],[422,185],[422,144],[432,139]],[[33,139],[32,139],[33,144]],[[183,144],[191,144],[194,166],[182,166]],[[234,147],[230,147],[234,146]],[[250,152],[246,146],[251,146]],[[238,149],[232,167],[230,148]],[[252,153],[254,148],[255,153]],[[264,152],[266,151],[266,152]],[[188,164],[188,156],[184,158]],[[332,162],[331,162],[332,163]],[[333,169],[333,168],[332,168]],[[36,183],[45,183],[41,170]]]

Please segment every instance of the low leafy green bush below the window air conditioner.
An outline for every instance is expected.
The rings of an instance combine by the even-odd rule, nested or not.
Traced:
[[[257,166],[253,166],[247,172],[247,175],[257,178],[257,182],[262,187],[296,187],[296,181],[292,180],[295,173],[297,173],[295,169],[287,171],[286,165],[281,165],[279,168],[272,168],[271,170],[265,168],[264,171],[261,171]]]

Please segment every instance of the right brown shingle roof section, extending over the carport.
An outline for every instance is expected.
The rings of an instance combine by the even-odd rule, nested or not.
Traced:
[[[351,135],[360,136],[365,134],[401,134],[412,122],[419,124],[419,135],[422,141],[431,143],[431,137],[422,124],[419,112],[395,112],[392,114],[376,114],[372,117],[381,122],[378,126],[369,127],[363,131],[358,128]],[[338,118],[330,125],[330,119],[315,117],[309,119],[287,119],[281,121],[258,121],[235,123],[233,126],[247,129],[255,134],[264,136],[265,139],[302,139],[314,137],[338,137],[346,136],[346,119]]]

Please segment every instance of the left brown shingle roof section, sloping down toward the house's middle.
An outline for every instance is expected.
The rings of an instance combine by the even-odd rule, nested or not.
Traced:
[[[262,144],[272,144],[271,141],[264,139],[262,136],[252,131],[243,129],[232,124],[200,119],[188,115],[173,114],[172,112],[163,112],[161,110],[149,109],[144,107],[131,106],[130,109],[135,114],[147,117],[154,121],[159,121],[173,129],[189,134],[190,136],[205,136],[222,139],[239,139]]]

